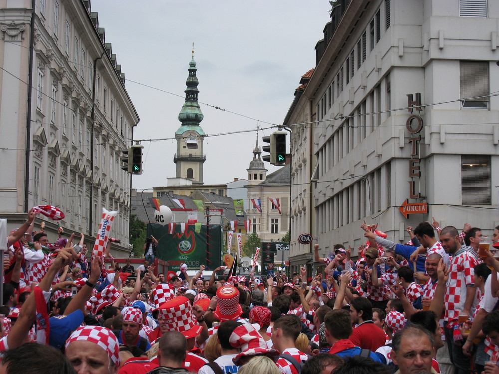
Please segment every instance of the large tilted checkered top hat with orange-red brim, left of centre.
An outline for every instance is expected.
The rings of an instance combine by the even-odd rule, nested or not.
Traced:
[[[196,321],[191,303],[185,296],[177,296],[161,304],[159,314],[169,331],[176,330],[186,338],[195,337],[203,328]]]

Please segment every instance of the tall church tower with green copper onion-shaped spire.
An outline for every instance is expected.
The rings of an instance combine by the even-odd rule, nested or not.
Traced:
[[[194,43],[192,60],[189,62],[189,76],[186,81],[186,101],[179,113],[182,123],[175,132],[177,139],[177,153],[173,162],[177,164],[176,177],[186,178],[193,184],[203,184],[203,163],[206,160],[203,154],[203,137],[205,133],[200,122],[203,112],[198,104],[198,78],[196,77],[196,62],[194,61]]]

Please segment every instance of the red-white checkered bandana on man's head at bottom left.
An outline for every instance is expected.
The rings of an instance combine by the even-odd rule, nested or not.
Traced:
[[[77,340],[86,340],[97,344],[107,352],[111,361],[118,367],[120,364],[120,344],[116,335],[106,327],[83,326],[77,328],[66,340],[67,347]]]

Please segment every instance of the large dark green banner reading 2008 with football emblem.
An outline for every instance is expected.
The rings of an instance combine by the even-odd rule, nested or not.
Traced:
[[[186,263],[189,268],[199,268],[206,263],[206,225],[187,225],[170,223],[162,226],[158,223],[147,226],[147,236],[153,235],[158,240],[157,256],[166,261],[169,270],[177,271]],[[209,269],[221,264],[222,227],[210,226]]]

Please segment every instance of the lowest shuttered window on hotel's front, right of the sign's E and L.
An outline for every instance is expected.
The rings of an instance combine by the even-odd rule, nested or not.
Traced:
[[[491,157],[461,156],[461,202],[491,205]]]

